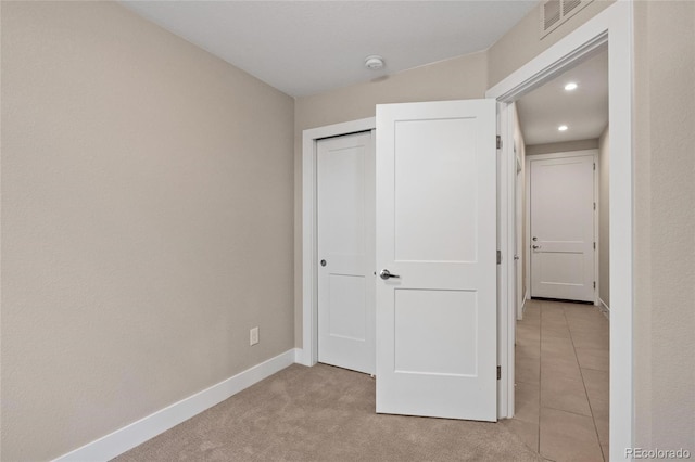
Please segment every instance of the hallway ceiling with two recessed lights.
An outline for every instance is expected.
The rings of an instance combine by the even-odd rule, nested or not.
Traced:
[[[566,91],[570,81],[579,87]],[[527,145],[598,138],[608,125],[608,51],[528,93],[517,107]],[[563,124],[567,131],[557,130]]]

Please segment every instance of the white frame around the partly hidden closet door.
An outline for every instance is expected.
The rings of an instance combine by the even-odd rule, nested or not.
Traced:
[[[304,130],[302,133],[302,349],[296,362],[314,365],[318,362],[318,240],[316,143],[318,140],[370,131],[377,128],[376,117],[333,124]]]

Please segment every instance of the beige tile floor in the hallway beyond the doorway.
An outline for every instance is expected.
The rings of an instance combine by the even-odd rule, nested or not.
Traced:
[[[517,322],[516,414],[552,461],[608,460],[608,319],[592,305],[527,300]]]

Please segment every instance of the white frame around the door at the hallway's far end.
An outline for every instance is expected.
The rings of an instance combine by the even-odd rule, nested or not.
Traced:
[[[598,149],[593,149],[593,150],[580,150],[580,151],[563,151],[563,152],[556,152],[556,153],[552,153],[552,154],[536,154],[536,155],[529,155],[526,157],[526,171],[525,171],[525,181],[526,184],[531,184],[531,162],[533,161],[543,161],[543,159],[552,159],[552,158],[568,158],[568,157],[579,157],[579,156],[593,156],[594,157],[594,242],[596,243],[595,247],[594,247],[594,282],[596,283],[596,286],[594,287],[594,305],[598,306],[598,249],[601,248],[601,244],[598,242],[598,217],[599,217],[599,209],[598,209],[598,204],[599,204],[599,197],[598,197]],[[530,191],[530,190],[529,190]],[[526,291],[527,294],[529,294],[529,297],[531,297],[533,294],[531,294],[531,280],[532,280],[532,273],[531,273],[531,252],[529,251],[529,248],[531,248],[531,193],[529,192],[526,195],[526,204],[525,204],[525,209],[526,209],[526,216],[528,217],[528,219],[526,220],[526,235],[527,235],[527,242],[523,243],[523,252],[525,254],[528,256],[527,258],[525,258],[525,266],[526,266],[526,273],[528,274],[528,280],[527,280],[527,286],[526,286]]]

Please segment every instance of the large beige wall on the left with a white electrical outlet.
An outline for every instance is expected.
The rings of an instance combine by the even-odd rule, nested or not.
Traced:
[[[117,3],[2,2],[2,460],[293,347],[293,110]]]

